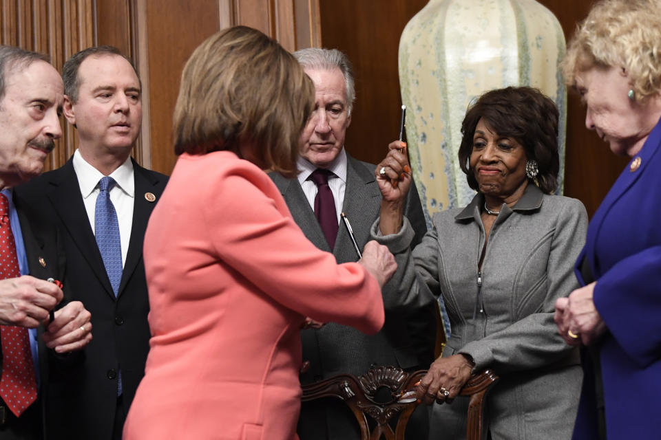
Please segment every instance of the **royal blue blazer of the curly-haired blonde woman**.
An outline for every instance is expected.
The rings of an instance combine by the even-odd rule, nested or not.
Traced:
[[[658,438],[661,395],[661,122],[594,214],[585,257],[608,332],[600,363],[609,439]],[[635,168],[635,167],[634,167]],[[589,365],[588,365],[589,368]],[[574,439],[596,439],[594,380],[587,375]]]

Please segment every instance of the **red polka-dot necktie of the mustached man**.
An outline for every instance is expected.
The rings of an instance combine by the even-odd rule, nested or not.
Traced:
[[[16,243],[9,222],[9,201],[0,194],[0,279],[18,278],[19,261]],[[36,400],[36,380],[30,335],[25,327],[0,326],[2,347],[2,377],[0,397],[8,408],[19,417],[25,408]]]

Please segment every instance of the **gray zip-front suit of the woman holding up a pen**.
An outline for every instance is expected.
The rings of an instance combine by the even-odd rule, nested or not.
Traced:
[[[556,299],[578,287],[573,265],[585,242],[585,208],[529,185],[492,226],[480,287],[483,202],[478,194],[463,210],[435,214],[434,229],[412,253],[406,221],[379,241],[406,265],[402,292],[443,295],[452,325],[443,357],[466,353],[474,371],[501,377],[487,397],[494,439],[570,439],[582,373],[578,350],[560,338],[553,315]],[[463,397],[434,404],[430,438],[464,438],[467,410]]]

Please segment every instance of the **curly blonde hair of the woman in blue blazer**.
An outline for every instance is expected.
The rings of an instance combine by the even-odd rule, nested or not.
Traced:
[[[661,0],[602,0],[569,41],[562,63],[565,83],[596,68],[629,74],[636,100],[661,91]]]

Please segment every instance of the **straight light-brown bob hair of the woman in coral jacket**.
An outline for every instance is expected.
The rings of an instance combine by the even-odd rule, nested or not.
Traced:
[[[234,151],[293,177],[315,86],[296,59],[258,30],[222,30],[193,52],[174,109],[174,151]]]

